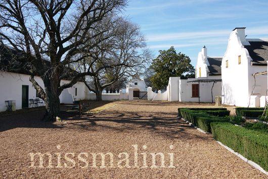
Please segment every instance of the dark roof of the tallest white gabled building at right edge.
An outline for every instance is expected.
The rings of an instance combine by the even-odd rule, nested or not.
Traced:
[[[267,66],[268,41],[248,41],[250,46],[244,46],[252,58],[251,65]]]

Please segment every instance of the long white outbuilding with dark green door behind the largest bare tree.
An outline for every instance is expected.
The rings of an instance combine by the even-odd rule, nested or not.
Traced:
[[[4,49],[9,48],[0,43],[0,66],[8,67],[11,56],[5,54]],[[35,88],[29,81],[30,75],[26,71],[18,71],[16,73],[9,70],[0,71],[0,111],[6,111],[8,106],[12,106],[13,110],[30,108],[44,105],[44,102],[38,98]],[[44,84],[39,76],[34,79],[44,89]],[[69,80],[61,80],[61,85],[70,82]],[[72,87],[63,90],[59,96],[61,103],[73,103],[73,101],[84,100],[88,93],[87,87],[83,82],[78,81]]]

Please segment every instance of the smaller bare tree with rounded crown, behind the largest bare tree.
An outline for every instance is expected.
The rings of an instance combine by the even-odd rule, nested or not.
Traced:
[[[140,33],[138,25],[123,18],[105,21],[101,29],[110,29],[100,48],[89,50],[94,54],[81,61],[79,68],[82,71],[90,70],[91,75],[85,80],[90,91],[96,94],[97,101],[102,100],[102,91],[119,79],[143,73],[151,54],[146,49],[144,36]],[[100,30],[100,29],[99,29]],[[98,32],[95,32],[98,34]],[[101,34],[102,38],[104,34]],[[99,70],[102,68],[101,70]],[[88,84],[94,83],[94,86]]]

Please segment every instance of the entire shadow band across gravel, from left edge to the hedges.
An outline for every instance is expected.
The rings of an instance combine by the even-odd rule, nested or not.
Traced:
[[[193,130],[183,120],[176,118],[176,113],[165,112],[130,112],[103,111],[99,114],[83,115],[63,114],[62,122],[42,122],[44,111],[32,111],[0,118],[0,132],[17,127],[27,128],[63,128],[83,131],[117,132],[154,132],[158,137],[170,139],[208,139]],[[170,117],[173,116],[173,117]]]

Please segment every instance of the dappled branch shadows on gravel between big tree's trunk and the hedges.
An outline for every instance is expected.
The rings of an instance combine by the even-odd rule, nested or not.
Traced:
[[[113,130],[118,132],[131,131],[139,132],[148,130],[154,132],[159,137],[171,139],[208,139],[209,136],[195,134],[195,128],[189,126],[186,122],[177,117],[170,117],[170,113],[150,112],[106,112],[106,116],[82,116],[69,117],[66,119],[67,124],[61,126],[78,129],[83,131],[89,130]],[[169,116],[169,117],[168,117]],[[176,116],[176,114],[174,114]]]

